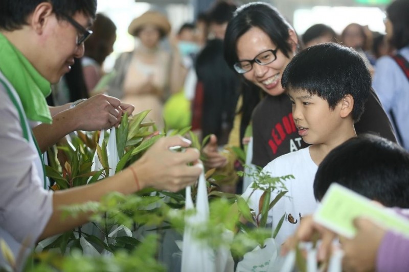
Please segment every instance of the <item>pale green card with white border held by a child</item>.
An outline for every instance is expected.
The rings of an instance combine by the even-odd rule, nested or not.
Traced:
[[[314,214],[314,221],[340,235],[353,238],[356,233],[353,220],[356,217],[366,217],[385,229],[409,237],[408,219],[337,183],[333,183],[324,195],[321,206]]]

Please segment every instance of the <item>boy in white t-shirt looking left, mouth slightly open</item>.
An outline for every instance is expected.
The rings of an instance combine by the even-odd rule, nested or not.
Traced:
[[[356,136],[354,122],[363,112],[371,75],[354,50],[325,43],[295,56],[285,68],[281,84],[292,102],[298,132],[311,145],[280,156],[263,169],[273,177],[294,176],[284,182],[287,197],[268,213],[273,230],[285,214],[277,245],[296,231],[304,214],[315,211],[313,181],[317,167],[334,147]],[[258,214],[263,191],[253,190],[249,186],[242,196],[249,197],[249,206]],[[271,193],[271,201],[277,193]]]

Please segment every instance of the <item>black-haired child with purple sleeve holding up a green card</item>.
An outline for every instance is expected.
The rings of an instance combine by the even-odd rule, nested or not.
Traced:
[[[397,144],[377,136],[365,135],[350,139],[332,150],[320,164],[314,180],[317,200],[321,201],[332,183],[343,185],[384,206],[407,208],[409,153]],[[325,196],[327,200],[329,196],[329,194]],[[338,208],[344,209],[341,206],[345,207],[348,204],[350,203],[341,202]],[[355,205],[353,209],[355,211],[361,207]],[[400,209],[397,212],[400,216],[394,215],[396,218],[393,219],[398,219],[397,217],[402,215],[409,217],[405,210]],[[394,220],[383,220],[379,223],[374,213],[370,213],[366,215],[368,219],[353,220],[356,232],[354,238],[342,239],[343,268],[354,271],[407,271],[409,267],[409,259],[406,257],[409,252],[409,238],[405,236],[407,234],[392,231],[393,227],[388,227],[390,221]],[[378,223],[369,218],[374,218]],[[333,218],[327,218],[326,221],[328,220],[331,221]],[[408,224],[409,220],[405,223]],[[310,240],[315,232],[322,237],[318,259],[326,260],[336,234],[314,222],[312,216],[303,219],[296,234],[283,246],[282,254],[285,255],[297,241]]]

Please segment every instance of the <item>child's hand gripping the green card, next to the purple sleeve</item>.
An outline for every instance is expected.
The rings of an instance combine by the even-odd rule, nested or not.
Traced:
[[[356,218],[354,225],[356,236],[342,241],[343,268],[347,271],[373,271],[378,248],[386,231],[363,218]]]

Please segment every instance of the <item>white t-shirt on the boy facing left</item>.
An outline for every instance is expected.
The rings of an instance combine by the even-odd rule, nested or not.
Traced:
[[[311,159],[309,147],[280,156],[263,168],[263,171],[269,172],[273,177],[294,176],[294,179],[284,181],[288,192],[268,212],[267,224],[272,224],[273,232],[285,213],[283,225],[276,236],[278,246],[297,230],[304,215],[315,211],[317,202],[314,197],[313,183],[317,168],[318,166]],[[249,186],[242,197],[247,200],[252,191],[253,188]],[[263,192],[256,190],[248,202],[256,214],[259,212],[259,200]],[[277,193],[271,193],[271,201],[275,199]]]

